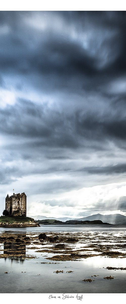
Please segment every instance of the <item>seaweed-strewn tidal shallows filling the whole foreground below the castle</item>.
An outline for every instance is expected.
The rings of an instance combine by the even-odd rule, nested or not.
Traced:
[[[125,293],[125,228],[0,228],[0,292]]]

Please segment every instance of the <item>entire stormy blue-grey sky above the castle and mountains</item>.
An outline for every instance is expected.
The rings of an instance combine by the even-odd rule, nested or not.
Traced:
[[[0,213],[126,215],[126,12],[0,12]]]

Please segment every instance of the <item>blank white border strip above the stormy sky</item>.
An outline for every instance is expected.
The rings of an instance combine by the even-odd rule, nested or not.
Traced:
[[[124,0],[7,0],[1,1],[1,11],[125,11]]]

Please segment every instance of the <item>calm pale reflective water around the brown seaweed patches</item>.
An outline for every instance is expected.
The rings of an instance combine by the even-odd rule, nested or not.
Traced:
[[[77,226],[77,225],[57,225],[41,226],[37,228],[0,228],[0,237],[3,233],[26,234],[26,236],[38,235],[39,233],[80,233],[83,236],[89,233],[91,237],[99,236],[118,239],[126,237],[126,226]],[[103,240],[104,242],[104,240]],[[126,244],[126,238],[124,239]],[[53,254],[35,252],[35,249],[29,249],[31,245],[26,245],[25,257],[28,254],[36,255],[36,259],[0,259],[0,292],[1,293],[126,293],[126,271],[108,270],[111,267],[126,267],[126,258],[110,257],[89,257],[82,261],[59,261],[58,264],[41,264],[41,262],[53,262],[46,260],[45,257],[51,257]],[[39,245],[37,245],[39,247]],[[40,246],[41,248],[41,246]],[[4,253],[4,244],[1,244],[1,252]],[[20,248],[21,249],[21,248]],[[13,251],[15,248],[12,249]],[[55,262],[55,261],[54,261]],[[63,270],[63,273],[56,274],[54,271]],[[68,273],[66,271],[73,271]],[[5,274],[5,272],[8,272]],[[91,278],[92,275],[99,275],[95,281],[83,282],[85,278]],[[114,276],[115,279],[106,280],[104,276]]]

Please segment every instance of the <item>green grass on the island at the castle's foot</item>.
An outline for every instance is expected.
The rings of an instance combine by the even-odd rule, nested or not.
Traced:
[[[31,217],[26,216],[0,216],[0,223],[25,223],[35,222]]]

